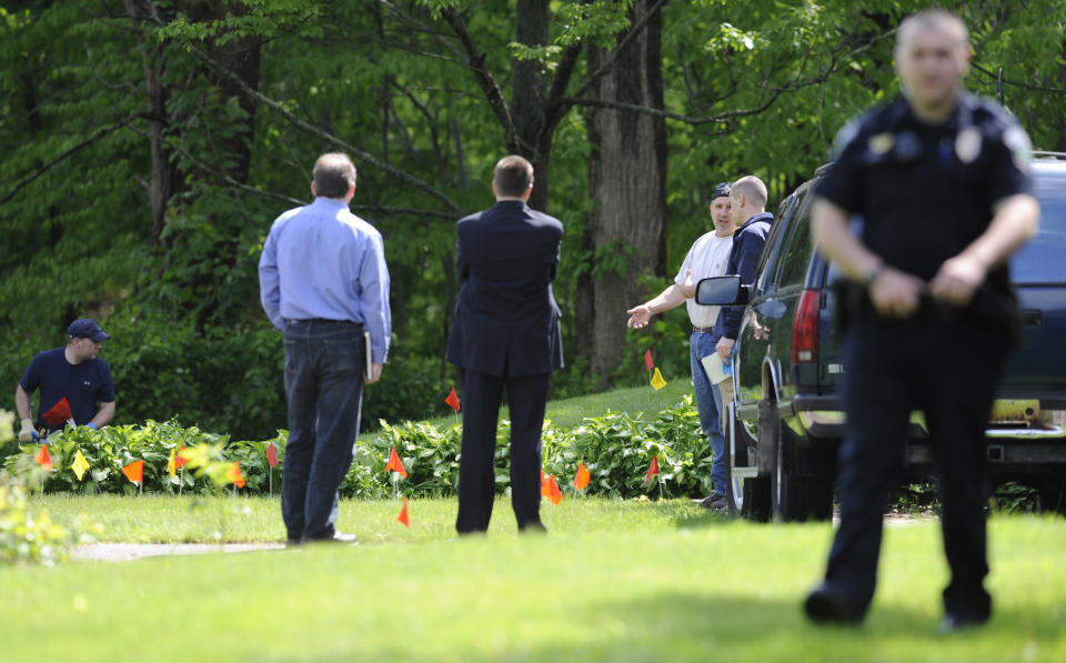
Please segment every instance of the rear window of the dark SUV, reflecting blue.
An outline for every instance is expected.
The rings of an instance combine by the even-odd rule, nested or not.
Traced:
[[[1040,232],[1010,260],[1010,280],[1018,284],[1066,283],[1066,169],[1036,163],[1033,170]]]

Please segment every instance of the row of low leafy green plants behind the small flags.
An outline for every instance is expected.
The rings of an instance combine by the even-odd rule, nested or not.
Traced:
[[[381,429],[369,442],[356,442],[354,461],[341,492],[345,496],[378,499],[392,494],[391,476],[385,472],[390,450],[395,446],[408,478],[398,484],[408,495],[451,495],[459,484],[459,459],[462,426],[438,429],[426,422],[404,422]],[[496,436],[496,489],[510,488],[510,422],[500,425]],[[137,488],[122,474],[122,466],[134,460],[144,461],[144,490],[157,492],[214,492],[221,490],[204,473],[179,472],[171,478],[167,463],[171,450],[218,448],[220,459],[240,463],[243,491],[266,492],[271,471],[266,462],[268,446],[273,443],[284,463],[286,433],[263,441],[230,441],[225,435],[182,428],[174,422],[149,421],[143,425],[105,426],[100,431],[87,428],[68,429],[52,435],[49,452],[54,469],[44,482],[46,491],[125,492]],[[607,412],[586,418],[574,429],[561,429],[545,422],[542,435],[542,464],[545,474],[554,474],[564,490],[580,463],[589,469],[592,480],[587,494],[632,498],[660,494],[696,496],[710,492],[712,456],[700,430],[692,396],[654,414]],[[20,458],[33,455],[40,445],[16,448],[3,462],[14,471]],[[71,464],[78,450],[90,470],[79,481]],[[661,475],[645,484],[644,478],[653,456],[657,456]],[[274,490],[281,485],[281,465],[273,469]]]

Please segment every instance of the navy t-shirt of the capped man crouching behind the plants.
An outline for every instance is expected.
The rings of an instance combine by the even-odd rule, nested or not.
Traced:
[[[108,362],[97,358],[74,365],[67,361],[63,351],[64,348],[56,348],[41,352],[22,375],[20,384],[26,393],[41,389],[38,428],[48,425],[41,414],[51,410],[63,396],[67,396],[78,425],[92,421],[97,414],[97,403],[114,401],[114,384]],[[60,428],[62,425],[53,430]]]

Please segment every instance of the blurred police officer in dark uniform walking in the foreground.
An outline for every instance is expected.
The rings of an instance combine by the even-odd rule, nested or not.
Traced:
[[[952,572],[942,630],[992,612],[984,425],[1016,334],[1006,261],[1036,232],[1039,208],[1025,132],[963,90],[969,54],[953,14],[905,20],[895,47],[903,97],[842,131],[815,189],[814,240],[862,295],[844,345],[841,526],[825,581],[804,604],[815,622],[866,614],[912,410],[924,411],[937,449]],[[859,235],[852,214],[864,219]]]

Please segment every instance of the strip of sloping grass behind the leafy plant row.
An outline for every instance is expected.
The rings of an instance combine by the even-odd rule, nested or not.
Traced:
[[[655,391],[648,385],[616,389],[603,393],[594,393],[573,399],[549,401],[545,418],[560,428],[573,428],[586,416],[601,416],[609,410],[636,413],[658,412],[676,405],[682,396],[692,393],[692,378],[685,373],[676,375],[666,383],[666,386]],[[368,414],[363,413],[364,416]],[[507,408],[500,409],[500,419],[509,419]],[[426,420],[438,429],[447,428],[462,422],[460,414],[451,414],[438,419]],[[390,422],[398,423],[398,422]],[[369,442],[378,435],[376,432],[363,433],[360,440]]]

